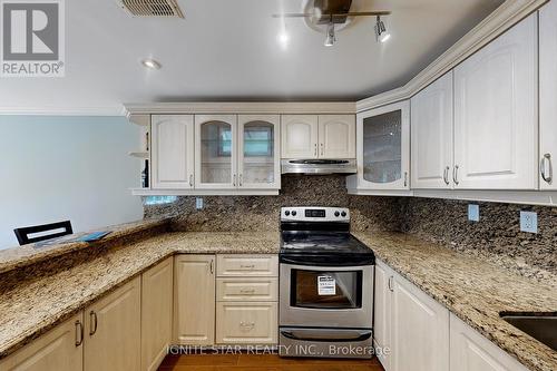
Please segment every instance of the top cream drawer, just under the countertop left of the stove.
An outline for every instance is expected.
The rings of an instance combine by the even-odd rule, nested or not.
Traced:
[[[217,276],[272,276],[278,275],[277,255],[217,255]]]

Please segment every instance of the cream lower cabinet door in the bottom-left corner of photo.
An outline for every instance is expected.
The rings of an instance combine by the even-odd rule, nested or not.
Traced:
[[[75,315],[0,361],[3,371],[76,371],[84,367],[84,314]]]

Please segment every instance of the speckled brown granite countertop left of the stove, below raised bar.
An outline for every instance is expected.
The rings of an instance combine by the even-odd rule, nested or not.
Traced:
[[[175,253],[276,254],[278,245],[276,232],[164,233],[31,280],[0,294],[0,359]]]

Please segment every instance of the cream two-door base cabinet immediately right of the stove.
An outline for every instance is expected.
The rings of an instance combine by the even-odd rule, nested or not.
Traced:
[[[374,341],[389,350],[378,357],[385,370],[448,370],[449,311],[381,261],[375,267]]]

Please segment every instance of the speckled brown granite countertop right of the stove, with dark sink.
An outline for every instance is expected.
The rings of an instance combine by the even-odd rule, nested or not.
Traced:
[[[403,233],[353,233],[375,256],[531,370],[557,370],[557,352],[499,312],[555,312],[556,285],[541,284]]]

